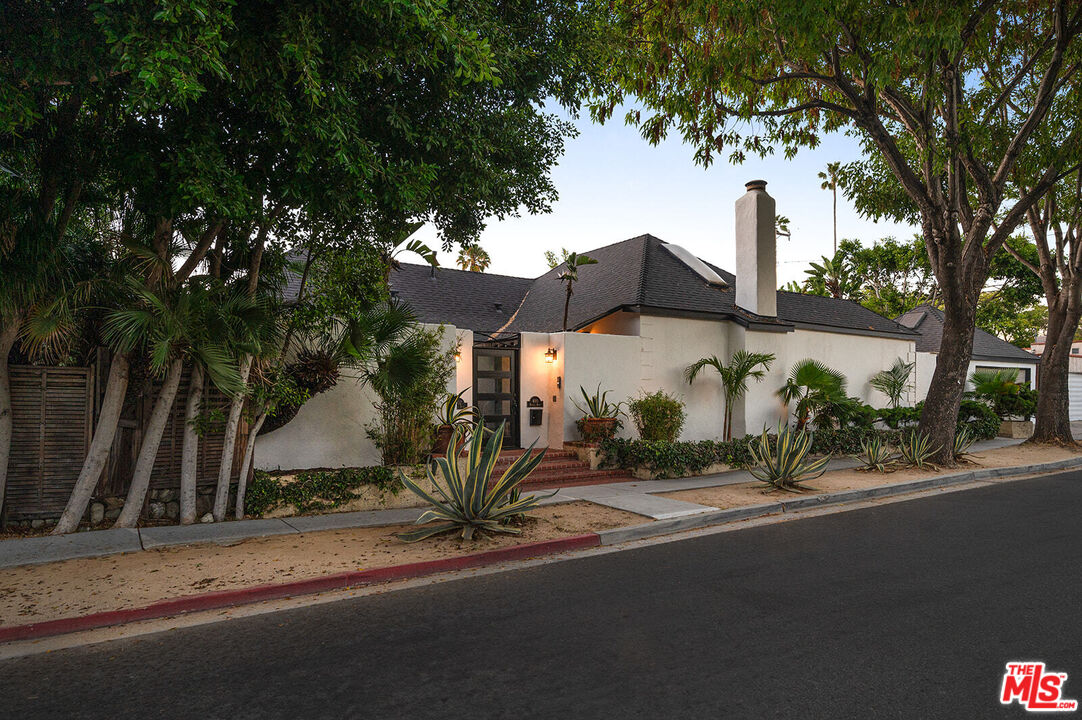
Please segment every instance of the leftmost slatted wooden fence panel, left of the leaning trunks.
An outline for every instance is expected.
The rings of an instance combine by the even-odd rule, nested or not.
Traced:
[[[12,445],[4,505],[24,518],[64,511],[93,429],[93,370],[13,365]]]

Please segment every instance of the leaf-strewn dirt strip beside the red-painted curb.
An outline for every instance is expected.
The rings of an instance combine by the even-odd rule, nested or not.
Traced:
[[[140,607],[204,591],[437,560],[649,522],[590,502],[547,506],[529,514],[522,535],[486,535],[471,542],[447,534],[407,545],[394,534],[413,526],[372,527],[0,570],[0,625]]]

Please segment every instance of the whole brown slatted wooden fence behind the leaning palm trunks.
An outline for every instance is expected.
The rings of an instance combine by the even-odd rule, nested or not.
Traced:
[[[4,513],[12,519],[54,518],[64,510],[90,446],[104,388],[98,379],[108,377],[106,358],[95,367],[11,366],[13,437],[8,469]],[[158,447],[153,489],[180,486],[184,409],[189,372],[181,379],[173,411]],[[95,497],[123,497],[143,441],[159,383],[133,383],[121,414],[117,435],[109,451]],[[224,416],[229,401],[212,387],[203,389],[204,411]],[[234,454],[232,477],[240,471],[247,423],[241,421]],[[222,458],[223,433],[204,434],[199,443],[197,482],[213,485]]]

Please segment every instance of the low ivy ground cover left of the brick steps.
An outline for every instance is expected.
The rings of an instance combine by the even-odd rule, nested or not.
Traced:
[[[296,473],[290,482],[256,470],[245,495],[245,510],[255,516],[289,506],[300,513],[321,512],[360,497],[360,490],[367,486],[391,495],[403,488],[391,469],[380,466],[307,470]]]

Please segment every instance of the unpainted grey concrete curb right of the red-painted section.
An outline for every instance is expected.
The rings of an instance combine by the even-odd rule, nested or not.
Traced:
[[[1068,460],[1056,460],[1055,462],[1043,462],[1041,464],[1014,467],[1014,468],[988,468],[986,470],[971,470],[951,475],[938,475],[924,480],[912,480],[905,483],[894,483],[892,485],[880,485],[878,487],[866,487],[857,490],[841,490],[837,493],[823,493],[821,495],[808,495],[796,497],[792,500],[780,500],[764,505],[752,505],[743,508],[731,508],[729,510],[717,510],[715,512],[703,512],[697,515],[685,518],[674,518],[672,520],[659,520],[644,525],[632,525],[630,527],[615,527],[608,531],[601,531],[602,545],[618,545],[631,540],[642,540],[659,535],[669,535],[683,531],[698,529],[711,525],[722,525],[738,520],[750,520],[773,515],[779,512],[793,512],[807,508],[818,508],[829,505],[843,505],[868,500],[878,497],[890,497],[893,495],[905,495],[907,493],[918,493],[920,490],[933,489],[936,487],[949,487],[973,483],[979,480],[990,480],[994,477],[1016,477],[1034,475],[1055,470],[1069,470],[1082,467],[1082,458],[1071,458]]]

